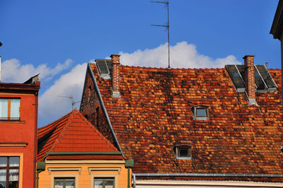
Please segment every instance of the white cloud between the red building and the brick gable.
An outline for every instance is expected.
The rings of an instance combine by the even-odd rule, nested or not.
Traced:
[[[71,100],[59,96],[73,96],[74,102],[81,100],[86,63],[76,65],[69,73],[63,74],[54,85],[39,98],[39,127],[53,122],[71,112]],[[79,107],[79,102],[75,107]]]

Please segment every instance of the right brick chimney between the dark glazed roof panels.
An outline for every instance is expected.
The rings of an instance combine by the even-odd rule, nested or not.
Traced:
[[[254,66],[255,55],[246,55],[243,57],[245,61],[245,88],[246,95],[248,97],[249,105],[257,105],[255,101],[255,66]]]

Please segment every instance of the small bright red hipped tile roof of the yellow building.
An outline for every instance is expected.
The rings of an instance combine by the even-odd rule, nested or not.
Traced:
[[[117,148],[105,139],[78,110],[73,110],[57,121],[38,129],[37,142],[37,160],[42,160],[47,152],[118,152]],[[91,158],[122,157],[93,156]]]

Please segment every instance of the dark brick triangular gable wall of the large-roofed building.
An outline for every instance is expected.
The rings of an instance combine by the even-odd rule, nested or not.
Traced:
[[[87,71],[85,90],[83,91],[83,99],[81,101],[81,114],[93,124],[103,136],[105,136],[114,146],[116,146],[112,134],[110,132],[105,114],[98,100],[96,88],[90,73]],[[91,89],[89,93],[89,89]]]

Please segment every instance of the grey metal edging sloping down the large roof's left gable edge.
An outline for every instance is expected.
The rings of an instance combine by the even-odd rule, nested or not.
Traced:
[[[113,136],[113,138],[114,138],[114,141],[115,141],[115,143],[117,144],[117,147],[119,148],[119,150],[121,151],[122,156],[125,158],[125,155],[124,155],[124,153],[123,153],[123,151],[122,151],[122,149],[121,149],[121,147],[120,147],[120,144],[119,144],[119,142],[118,142],[118,140],[117,140],[117,137],[115,136],[115,132],[114,132],[114,130],[113,130],[113,128],[112,128],[112,124],[111,124],[111,122],[110,122],[108,113],[107,113],[107,111],[106,111],[105,105],[104,105],[103,100],[102,100],[102,97],[101,97],[101,95],[100,95],[100,92],[99,92],[99,89],[98,89],[98,85],[97,85],[97,83],[96,83],[96,77],[93,75],[93,71],[91,70],[91,65],[90,65],[89,63],[88,63],[88,71],[91,72],[91,78],[93,79],[94,86],[96,87],[96,91],[97,91],[97,94],[98,94],[98,99],[99,99],[99,102],[100,102],[100,104],[101,104],[102,110],[103,110],[103,112],[104,112],[104,114],[105,114],[106,121],[108,122],[108,126],[109,126],[109,128],[110,128],[110,131],[111,131],[111,133],[112,133],[112,136]]]

